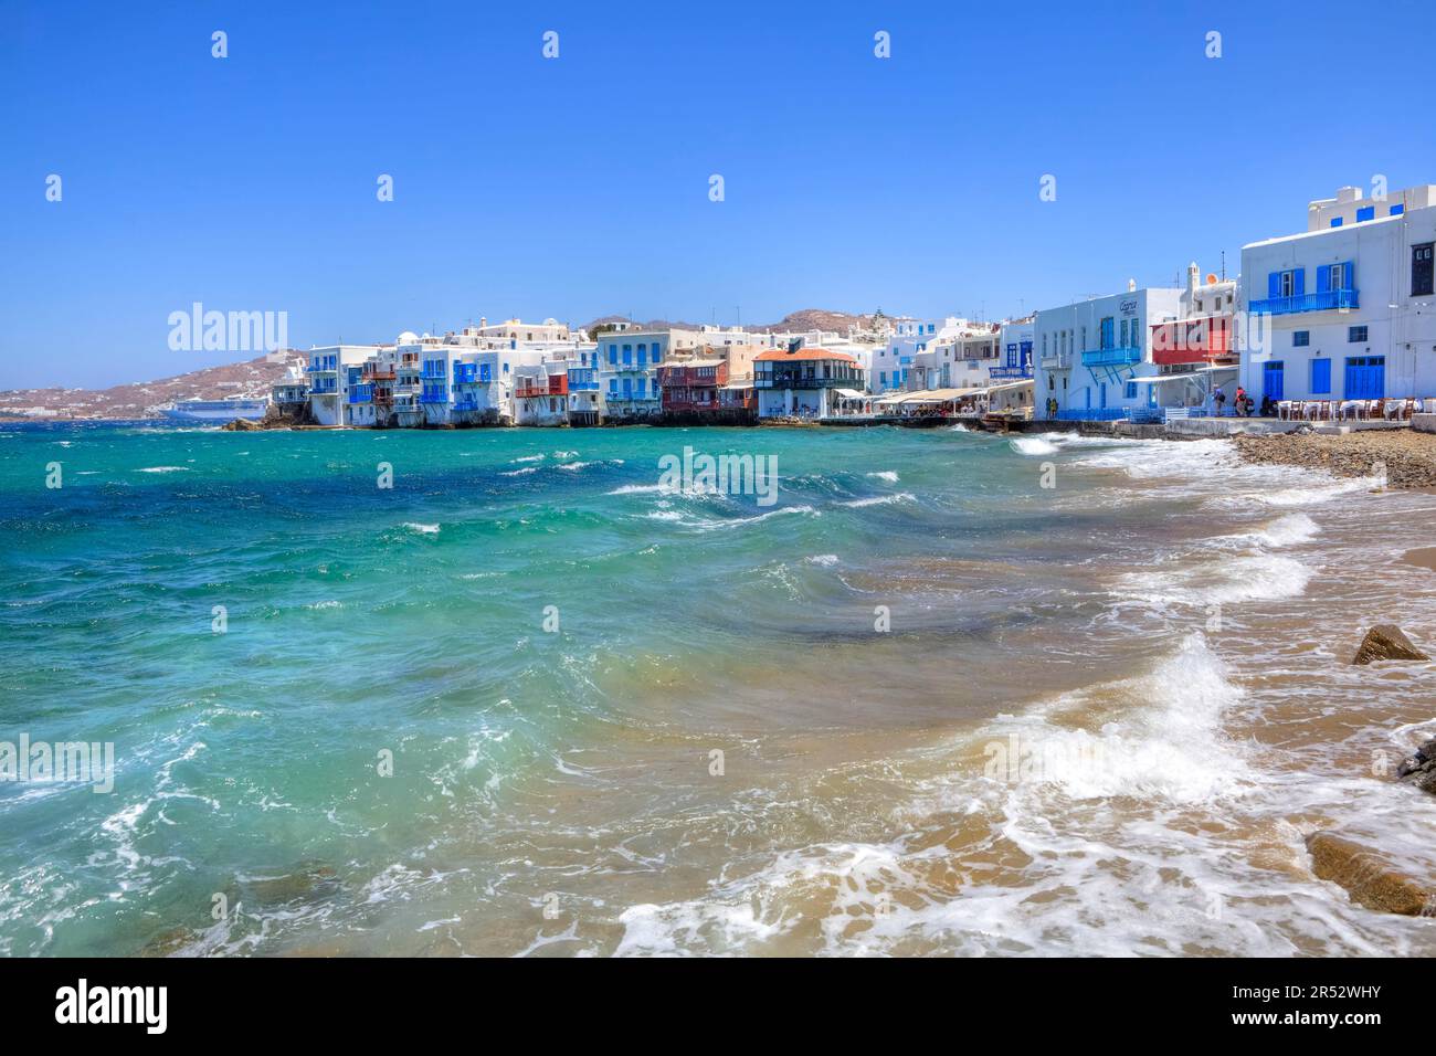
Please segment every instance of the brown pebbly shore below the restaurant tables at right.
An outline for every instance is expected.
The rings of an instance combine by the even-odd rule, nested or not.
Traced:
[[[1298,466],[1337,477],[1376,477],[1386,467],[1391,488],[1436,488],[1436,434],[1367,430],[1346,435],[1278,432],[1232,437],[1238,454],[1258,466]]]

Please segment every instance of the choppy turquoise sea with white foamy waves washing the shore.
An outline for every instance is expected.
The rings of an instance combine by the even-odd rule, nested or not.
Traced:
[[[685,447],[777,503],[662,487]],[[1429,843],[1370,767],[1429,677],[1341,654],[1436,641],[1432,496],[1218,441],[7,425],[0,501],[0,741],[115,746],[0,782],[0,954],[1436,951],[1301,851]]]

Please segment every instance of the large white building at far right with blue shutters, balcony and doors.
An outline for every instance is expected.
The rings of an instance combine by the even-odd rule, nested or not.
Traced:
[[[1242,247],[1241,382],[1259,402],[1436,395],[1436,185],[1307,205],[1307,230]]]

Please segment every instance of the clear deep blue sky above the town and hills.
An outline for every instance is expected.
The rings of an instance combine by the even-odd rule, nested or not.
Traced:
[[[997,318],[1235,274],[1341,184],[1436,181],[1429,4],[325,7],[0,0],[0,388],[241,358],[169,351],[195,300],[286,310],[300,348]]]

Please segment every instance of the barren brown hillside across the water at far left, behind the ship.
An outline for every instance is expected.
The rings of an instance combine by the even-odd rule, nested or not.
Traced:
[[[297,353],[293,359],[299,359]],[[0,418],[75,421],[85,418],[158,418],[158,407],[175,399],[241,399],[267,397],[284,376],[286,362],[267,356],[243,363],[207,366],[151,382],[108,389],[10,389],[0,392]]]

